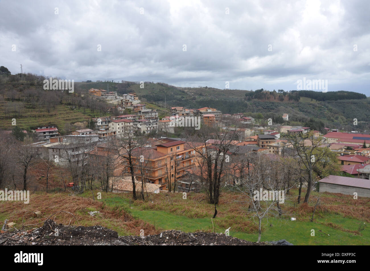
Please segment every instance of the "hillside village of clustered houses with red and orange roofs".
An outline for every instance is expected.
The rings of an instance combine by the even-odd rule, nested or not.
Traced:
[[[116,109],[121,114],[127,111],[130,114],[92,118],[86,129],[66,135],[60,135],[55,126],[40,123],[39,127],[33,130],[38,141],[28,146],[35,150],[37,157],[48,162],[55,162],[55,157],[58,157],[58,164],[65,167],[72,167],[73,163],[95,163],[96,168],[99,168],[98,161],[109,160],[111,165],[108,168],[111,172],[105,176],[107,183],[101,185],[101,188],[107,191],[121,193],[135,189],[140,192],[141,183],[145,183],[145,189],[150,193],[165,193],[171,190],[199,192],[204,178],[202,172],[199,172],[205,158],[202,157],[202,149],[203,153],[204,149],[210,149],[211,152],[223,149],[228,155],[238,159],[252,153],[284,159],[296,152],[289,136],[309,133],[311,140],[304,139],[303,146],[312,146],[312,140],[319,139],[317,147],[328,148],[335,154],[336,163],[340,166],[335,173],[338,176],[330,175],[316,180],[323,187],[321,191],[352,194],[353,189],[360,189],[361,196],[370,197],[368,183],[358,180],[370,177],[368,134],[339,132],[334,128],[325,128],[325,134],[322,134],[310,127],[273,123],[268,125],[267,122],[258,123],[251,116],[242,113],[222,114],[218,109],[209,107],[171,107],[171,115],[159,119],[156,109],[147,109],[136,93],[118,96],[117,92],[90,89],[88,95],[107,99],[112,104],[112,107],[107,108],[108,112]],[[189,124],[194,127],[194,120],[199,118],[203,129],[216,129],[218,132],[196,142],[190,135],[184,138],[155,137],[158,132],[173,134],[175,127],[181,127],[181,118],[185,119],[182,126]],[[283,114],[282,118],[287,121],[289,116]],[[4,131],[4,134],[10,133],[11,131]],[[148,138],[148,135],[154,137]],[[143,139],[144,141],[139,142]],[[118,144],[120,146],[117,145],[117,140],[121,142],[121,145]],[[129,144],[132,146],[127,149]],[[227,148],[224,145],[228,145]],[[132,159],[120,159],[125,157],[123,153],[129,153]],[[140,161],[140,157],[144,157],[145,165]],[[133,165],[131,168],[129,163]],[[231,164],[232,166],[223,169],[222,182],[225,185],[235,185],[235,182],[238,182],[236,180],[242,178],[242,173],[236,173],[235,165]],[[145,170],[140,167],[145,167]],[[136,188],[132,180],[135,180]],[[74,179],[71,185],[78,186],[78,181],[78,178]],[[352,190],[347,191],[347,186],[352,187]]]

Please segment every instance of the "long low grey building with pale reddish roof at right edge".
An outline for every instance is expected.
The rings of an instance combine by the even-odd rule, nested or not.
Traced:
[[[370,197],[370,181],[352,177],[329,175],[319,180],[319,191],[329,193],[342,193],[359,197]]]

